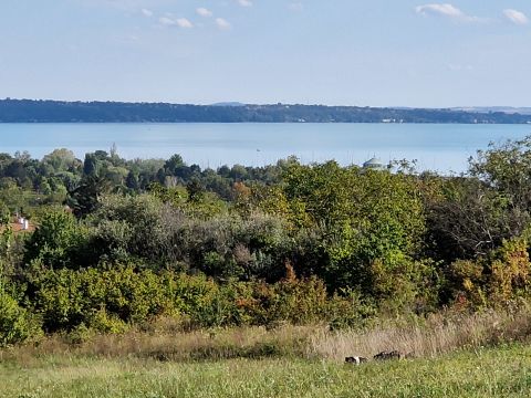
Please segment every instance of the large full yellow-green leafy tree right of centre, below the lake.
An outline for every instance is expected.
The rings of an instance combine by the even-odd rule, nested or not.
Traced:
[[[282,187],[293,227],[322,237],[317,272],[331,290],[348,286],[391,296],[400,284],[394,284],[395,291],[381,286],[419,281],[413,263],[423,248],[425,214],[414,176],[342,168],[334,161],[295,163],[284,171]]]

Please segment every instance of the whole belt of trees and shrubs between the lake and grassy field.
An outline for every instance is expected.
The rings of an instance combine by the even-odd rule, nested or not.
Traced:
[[[163,316],[341,328],[507,307],[530,298],[530,237],[531,138],[459,176],[0,154],[0,346]]]

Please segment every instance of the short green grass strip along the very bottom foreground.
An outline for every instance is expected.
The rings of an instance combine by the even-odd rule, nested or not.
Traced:
[[[1,397],[529,397],[531,346],[348,366],[300,358],[159,362],[44,356],[0,364]]]

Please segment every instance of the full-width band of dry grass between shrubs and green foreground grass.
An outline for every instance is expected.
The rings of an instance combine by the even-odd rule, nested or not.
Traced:
[[[0,350],[0,362],[31,365],[41,357],[139,358],[159,362],[230,358],[300,357],[343,362],[346,356],[373,357],[383,350],[434,358],[459,349],[524,342],[531,336],[531,308],[476,314],[439,313],[427,320],[381,321],[362,331],[331,332],[325,326],[282,325],[183,332],[163,318],[146,331],[97,335],[81,344],[51,336],[39,345]]]

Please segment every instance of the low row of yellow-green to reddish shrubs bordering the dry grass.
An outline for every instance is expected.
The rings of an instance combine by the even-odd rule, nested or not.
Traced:
[[[134,266],[108,270],[43,270],[33,264],[28,279],[33,298],[29,310],[39,314],[46,332],[88,327],[118,333],[149,318],[176,316],[189,327],[229,325],[312,324],[333,321],[350,325],[360,302],[330,298],[322,281],[288,276],[273,284],[219,284],[205,275],[187,275]]]

